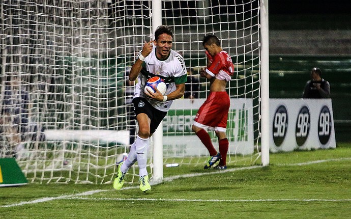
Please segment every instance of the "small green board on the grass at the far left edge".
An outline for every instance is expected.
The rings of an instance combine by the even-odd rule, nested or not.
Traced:
[[[0,187],[25,185],[28,181],[15,158],[0,158]]]

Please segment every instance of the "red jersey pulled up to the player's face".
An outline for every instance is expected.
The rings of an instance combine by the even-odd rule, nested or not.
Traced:
[[[221,51],[217,53],[213,58],[209,67],[207,67],[206,72],[213,77],[217,77],[216,75],[220,74],[222,77],[218,79],[230,80],[230,77],[234,73],[234,65],[231,61],[231,57],[226,51]],[[223,75],[225,73],[226,75]]]

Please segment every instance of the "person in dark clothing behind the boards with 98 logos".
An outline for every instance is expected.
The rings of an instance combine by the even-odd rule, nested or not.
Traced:
[[[321,78],[319,68],[312,68],[311,79],[305,85],[302,98],[330,98],[329,82]]]

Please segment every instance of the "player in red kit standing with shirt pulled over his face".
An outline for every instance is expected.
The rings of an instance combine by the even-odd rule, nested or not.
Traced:
[[[230,98],[225,87],[234,73],[234,66],[229,54],[220,45],[214,35],[203,38],[202,45],[206,49],[208,65],[206,70],[201,69],[200,76],[211,81],[210,94],[199,108],[194,119],[192,130],[206,146],[210,157],[204,169],[227,169],[226,156],[229,141],[226,136],[227,118],[230,107]],[[219,152],[212,144],[209,133],[205,130],[214,130],[219,143]],[[217,165],[216,165],[217,164]]]

